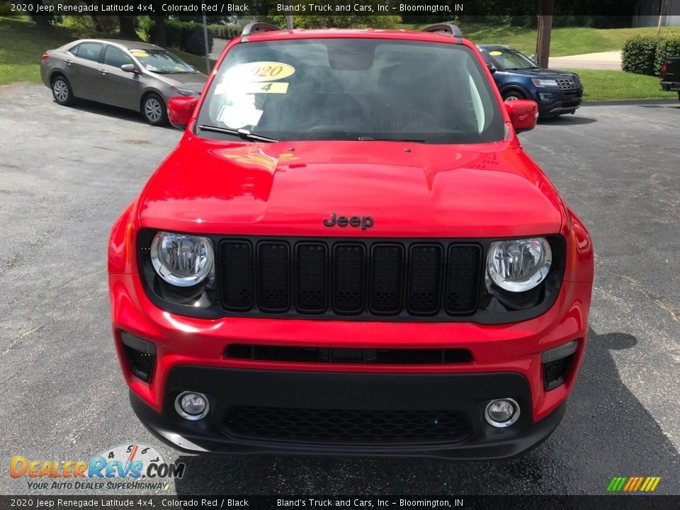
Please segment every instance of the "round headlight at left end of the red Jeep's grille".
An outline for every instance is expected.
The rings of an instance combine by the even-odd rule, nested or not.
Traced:
[[[178,287],[196,285],[212,271],[212,242],[172,232],[158,232],[151,243],[151,262],[158,275]]]

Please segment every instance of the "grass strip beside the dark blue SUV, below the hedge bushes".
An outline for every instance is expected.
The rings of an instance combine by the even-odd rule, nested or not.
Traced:
[[[581,77],[585,101],[619,101],[622,99],[674,99],[676,92],[659,90],[659,78],[623,71],[570,69]]]

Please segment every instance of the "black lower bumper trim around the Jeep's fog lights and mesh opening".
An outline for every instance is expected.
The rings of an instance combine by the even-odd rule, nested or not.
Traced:
[[[210,414],[182,419],[174,399],[183,391],[204,393]],[[509,397],[521,407],[506,429],[486,423],[489,400]],[[155,412],[133,392],[130,402],[143,424],[165,443],[188,452],[357,457],[430,457],[460,460],[510,458],[536,447],[562,420],[565,403],[538,422],[531,419],[528,382],[519,373],[395,374],[241,370],[201,366],[173,368],[166,380],[163,411]],[[337,443],[243,438],[223,430],[229,407],[256,405],[312,409],[452,409],[465,412],[466,441]]]

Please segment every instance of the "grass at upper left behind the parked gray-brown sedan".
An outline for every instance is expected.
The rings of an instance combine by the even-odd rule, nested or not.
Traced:
[[[116,38],[116,35],[84,33],[76,28],[38,28],[30,21],[0,18],[0,85],[28,81],[40,83],[40,57],[45,50],[75,39]],[[171,48],[172,52],[205,72],[205,57]],[[214,63],[214,62],[213,62]]]

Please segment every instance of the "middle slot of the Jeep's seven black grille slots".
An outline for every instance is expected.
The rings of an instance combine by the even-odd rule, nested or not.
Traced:
[[[363,244],[336,244],[333,254],[333,309],[359,314],[364,305],[365,249]]]

